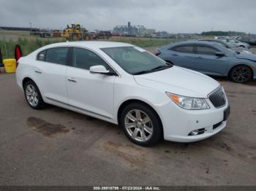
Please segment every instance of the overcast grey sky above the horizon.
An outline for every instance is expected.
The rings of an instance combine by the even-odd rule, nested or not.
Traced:
[[[113,30],[128,21],[170,33],[256,34],[256,0],[0,0],[0,26]]]

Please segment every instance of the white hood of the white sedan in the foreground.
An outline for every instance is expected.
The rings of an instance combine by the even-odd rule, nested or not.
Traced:
[[[138,85],[195,98],[207,98],[219,82],[197,71],[173,66],[170,69],[134,76]]]

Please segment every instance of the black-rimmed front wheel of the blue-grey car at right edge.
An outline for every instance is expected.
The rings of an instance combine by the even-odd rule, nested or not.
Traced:
[[[252,69],[244,65],[235,66],[230,71],[230,79],[237,83],[249,82],[252,79]]]

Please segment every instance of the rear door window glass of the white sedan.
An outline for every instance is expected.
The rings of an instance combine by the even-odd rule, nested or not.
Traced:
[[[50,48],[46,51],[45,61],[49,63],[66,64],[68,47]]]

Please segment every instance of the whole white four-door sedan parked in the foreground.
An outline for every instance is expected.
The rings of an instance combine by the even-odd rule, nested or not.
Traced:
[[[206,139],[225,128],[230,113],[217,81],[131,44],[50,44],[18,63],[31,108],[53,104],[118,124],[142,146]]]

